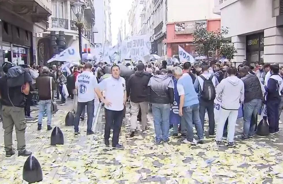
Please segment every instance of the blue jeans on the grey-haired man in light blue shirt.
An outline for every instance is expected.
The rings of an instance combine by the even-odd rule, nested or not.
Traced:
[[[193,141],[193,123],[195,124],[197,135],[199,139],[203,139],[203,128],[200,122],[200,105],[194,104],[192,106],[183,107],[183,117],[187,127],[187,140]]]

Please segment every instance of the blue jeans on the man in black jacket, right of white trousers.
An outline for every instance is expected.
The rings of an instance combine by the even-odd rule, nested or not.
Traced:
[[[256,119],[258,114],[258,109],[261,107],[262,99],[253,99],[247,103],[244,103],[244,137],[249,137],[254,134],[254,129],[256,124],[254,121],[251,121],[252,117]],[[257,122],[256,122],[257,123]]]

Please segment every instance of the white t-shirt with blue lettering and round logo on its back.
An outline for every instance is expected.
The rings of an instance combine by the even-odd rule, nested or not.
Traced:
[[[95,98],[96,77],[92,72],[84,71],[77,76],[75,86],[78,88],[78,102],[88,102]]]

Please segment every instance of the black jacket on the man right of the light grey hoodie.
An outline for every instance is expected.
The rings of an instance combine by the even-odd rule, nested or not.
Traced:
[[[245,87],[244,103],[250,102],[253,99],[262,99],[262,91],[258,77],[252,74],[247,74],[242,78]]]

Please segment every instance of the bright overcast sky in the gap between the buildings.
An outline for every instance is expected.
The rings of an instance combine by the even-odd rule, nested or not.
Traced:
[[[126,20],[126,24],[129,24],[128,12],[132,7],[132,2],[133,0],[111,0],[112,45],[117,44],[118,28],[121,26],[121,20]]]

